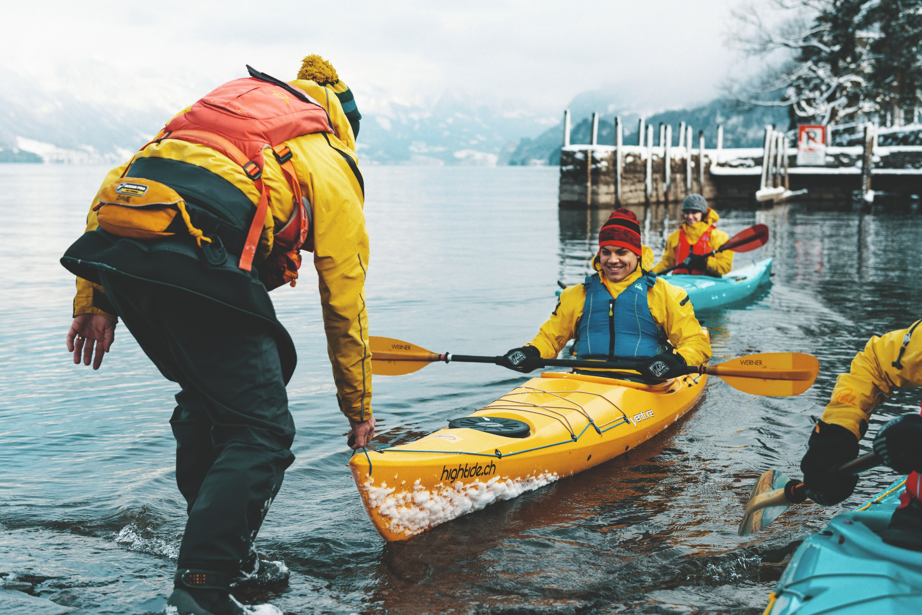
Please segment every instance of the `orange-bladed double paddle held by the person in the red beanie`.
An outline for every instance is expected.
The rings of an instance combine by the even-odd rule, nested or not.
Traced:
[[[396,376],[421,370],[434,361],[458,363],[493,363],[502,365],[502,357],[463,354],[437,354],[409,342],[391,337],[369,337],[372,346],[372,373]],[[540,367],[573,367],[595,370],[632,370],[645,361],[619,358],[616,361],[575,361],[542,359]],[[800,395],[810,388],[820,373],[820,361],[799,352],[767,352],[731,359],[719,365],[688,367],[686,373],[718,376],[730,386],[752,395],[787,397]]]

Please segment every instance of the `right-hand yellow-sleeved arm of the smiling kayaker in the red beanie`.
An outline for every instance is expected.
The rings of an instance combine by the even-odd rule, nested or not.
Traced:
[[[711,344],[695,318],[688,293],[665,279],[647,293],[650,314],[662,326],[669,342],[689,365],[701,365],[711,359]]]

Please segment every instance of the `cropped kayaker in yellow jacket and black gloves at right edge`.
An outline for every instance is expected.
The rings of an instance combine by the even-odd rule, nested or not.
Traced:
[[[855,491],[857,477],[840,479],[826,472],[858,456],[858,441],[868,431],[868,420],[881,401],[902,387],[922,386],[922,327],[871,337],[855,355],[849,373],[840,373],[833,396],[810,432],[807,454],[800,462],[807,497],[829,506]],[[910,473],[900,507],[883,541],[904,549],[922,550],[922,416],[904,414],[881,428],[874,452],[901,474]]]

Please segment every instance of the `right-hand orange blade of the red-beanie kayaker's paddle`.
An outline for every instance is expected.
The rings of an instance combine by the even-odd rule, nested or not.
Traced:
[[[790,397],[813,385],[820,373],[820,361],[801,352],[765,352],[711,365],[707,373],[720,376],[744,393]]]

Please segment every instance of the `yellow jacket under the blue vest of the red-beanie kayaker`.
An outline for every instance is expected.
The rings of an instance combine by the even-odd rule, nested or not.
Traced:
[[[643,254],[642,266],[649,266],[653,262],[653,251],[644,245]],[[598,271],[598,276],[612,298],[617,298],[622,290],[641,277],[641,267],[638,267],[621,282],[611,282],[600,270],[598,256],[593,261],[593,267]],[[656,286],[647,290],[646,299],[654,322],[657,326],[663,327],[669,342],[676,347],[685,362],[689,365],[701,365],[711,358],[711,344],[707,341],[698,319],[694,317],[694,310],[691,308],[691,302],[687,301],[688,294],[685,290],[672,286],[663,278],[657,278]],[[582,284],[562,290],[557,307],[550,314],[548,322],[541,325],[538,335],[528,346],[540,350],[544,359],[557,357],[567,342],[576,336],[580,319],[583,317],[584,303],[585,288]]]

